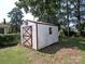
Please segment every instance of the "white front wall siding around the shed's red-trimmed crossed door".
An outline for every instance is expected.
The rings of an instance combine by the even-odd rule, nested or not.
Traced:
[[[23,39],[23,27],[25,27],[26,25],[22,25],[20,26],[20,39],[22,39],[22,43],[24,42]],[[28,23],[28,26],[32,26],[32,48],[37,50],[37,26],[34,23]]]

